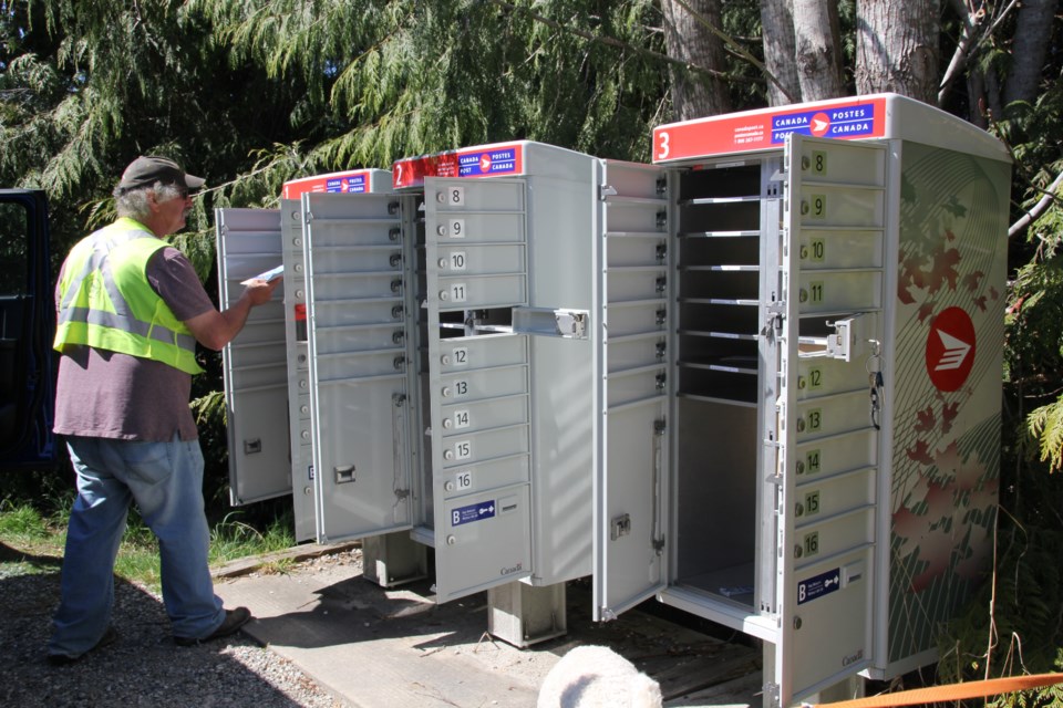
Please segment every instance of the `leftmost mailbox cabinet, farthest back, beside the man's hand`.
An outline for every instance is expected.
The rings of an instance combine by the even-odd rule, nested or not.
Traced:
[[[291,494],[299,541],[317,535],[299,199],[390,189],[391,173],[384,169],[333,173],[286,183],[280,209],[216,214],[221,308],[239,298],[241,281],[285,266],[278,290],[283,304],[256,308],[239,339],[223,350],[230,501]]]

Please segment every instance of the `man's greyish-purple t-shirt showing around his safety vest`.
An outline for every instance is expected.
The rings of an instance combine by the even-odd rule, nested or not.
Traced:
[[[178,320],[214,308],[188,259],[175,248],[159,249],[145,269],[152,288]],[[59,302],[59,289],[55,293]],[[192,375],[147,358],[70,347],[59,361],[55,433],[123,440],[169,441],[198,437],[188,407]]]

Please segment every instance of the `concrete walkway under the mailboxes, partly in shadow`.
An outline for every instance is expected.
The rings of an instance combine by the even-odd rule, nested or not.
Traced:
[[[358,548],[300,549],[298,563],[221,569],[216,591],[251,610],[247,634],[354,708],[534,708],[547,671],[581,644],[633,662],[665,706],[761,704],[758,649],[641,608],[594,623],[587,583],[569,584],[566,636],[518,649],[486,634],[485,593],[437,605],[427,581],[384,590],[363,579]]]

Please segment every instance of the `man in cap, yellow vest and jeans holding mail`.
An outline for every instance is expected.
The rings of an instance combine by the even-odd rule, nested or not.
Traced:
[[[233,306],[215,309],[188,259],[164,240],[184,228],[189,190],[203,184],[169,159],[137,157],[114,190],[118,219],[71,249],[55,288],[55,433],[68,436],[78,477],[48,645],[55,665],[116,637],[114,560],[131,501],[158,538],[178,645],[230,635],[250,620],[214,594],[188,398],[192,375],[203,371],[196,342],[225,346],[280,280],[252,281]]]

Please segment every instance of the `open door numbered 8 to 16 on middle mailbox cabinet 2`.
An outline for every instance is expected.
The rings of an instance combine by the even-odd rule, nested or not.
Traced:
[[[438,602],[532,574],[526,185],[424,180]]]

